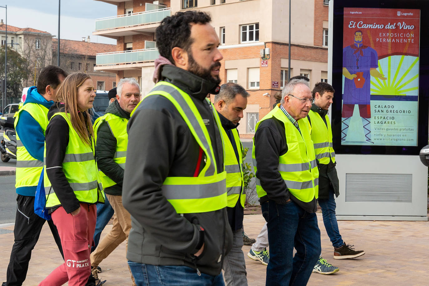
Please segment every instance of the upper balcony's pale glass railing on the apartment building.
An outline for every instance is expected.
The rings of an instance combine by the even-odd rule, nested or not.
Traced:
[[[155,24],[162,21],[166,16],[170,16],[170,13],[170,8],[164,8],[100,18],[95,20],[95,30],[107,32],[114,29]]]

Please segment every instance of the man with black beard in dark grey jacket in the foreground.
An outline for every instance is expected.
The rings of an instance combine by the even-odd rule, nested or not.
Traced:
[[[128,123],[122,202],[137,285],[224,285],[232,245],[219,92],[222,54],[204,12],[177,12],[156,30],[155,87]]]

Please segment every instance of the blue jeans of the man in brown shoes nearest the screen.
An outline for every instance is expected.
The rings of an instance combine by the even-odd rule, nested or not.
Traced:
[[[341,239],[340,231],[338,230],[337,217],[335,217],[335,198],[334,191],[329,189],[328,199],[319,199],[320,208],[322,208],[323,224],[325,225],[326,233],[332,242],[333,247],[341,247],[344,241]]]

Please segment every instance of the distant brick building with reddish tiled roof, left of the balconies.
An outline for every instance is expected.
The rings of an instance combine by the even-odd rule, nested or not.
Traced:
[[[52,39],[52,64],[57,65],[58,39]],[[110,90],[116,87],[116,74],[95,70],[95,55],[116,50],[115,45],[92,43],[90,37],[82,41],[60,40],[60,67],[67,73],[86,72],[91,76],[97,90]]]

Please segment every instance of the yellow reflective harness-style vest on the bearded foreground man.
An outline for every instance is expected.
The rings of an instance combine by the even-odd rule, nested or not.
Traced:
[[[227,206],[226,172],[218,170],[211,140],[202,117],[190,96],[173,84],[158,82],[131,112],[139,108],[148,96],[161,95],[169,99],[186,122],[198,145],[205,154],[205,166],[197,177],[167,177],[161,186],[164,197],[172,204],[178,214],[205,213]],[[215,111],[215,107],[211,109]],[[218,129],[223,127],[218,113],[213,112]],[[219,137],[222,136],[219,134]],[[223,139],[222,139],[223,141]]]

